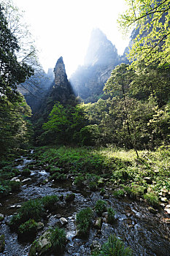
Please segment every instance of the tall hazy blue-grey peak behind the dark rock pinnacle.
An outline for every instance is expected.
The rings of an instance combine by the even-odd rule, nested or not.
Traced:
[[[125,56],[120,57],[115,45],[112,45],[106,35],[99,29],[94,29],[85,64],[78,67],[70,78],[75,94],[85,102],[95,102],[103,94],[104,83],[110,77],[112,69],[122,62],[125,62]]]

